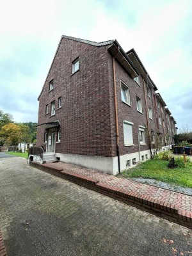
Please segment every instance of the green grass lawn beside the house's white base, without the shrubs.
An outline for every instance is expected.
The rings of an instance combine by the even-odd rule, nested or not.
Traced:
[[[156,179],[170,184],[192,188],[192,162],[186,168],[167,167],[168,161],[152,159],[138,164],[135,168],[126,170],[118,175],[125,178]]]

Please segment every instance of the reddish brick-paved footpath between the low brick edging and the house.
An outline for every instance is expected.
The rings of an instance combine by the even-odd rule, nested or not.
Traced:
[[[67,172],[77,173],[83,175],[84,177],[90,177],[97,180],[97,182],[102,182],[102,184],[108,184],[109,186],[114,186],[115,188],[122,188],[127,192],[137,192],[140,195],[152,196],[152,198],[159,199],[171,204],[175,204],[182,209],[186,209],[192,212],[192,196],[184,195],[175,191],[168,189],[157,188],[156,186],[150,186],[148,184],[143,184],[141,182],[136,182],[134,180],[128,180],[123,178],[117,178],[113,175],[108,175],[105,173],[100,173],[95,170],[89,170],[79,166],[74,166],[67,163],[47,163],[45,166],[50,166],[54,168],[63,168]]]

